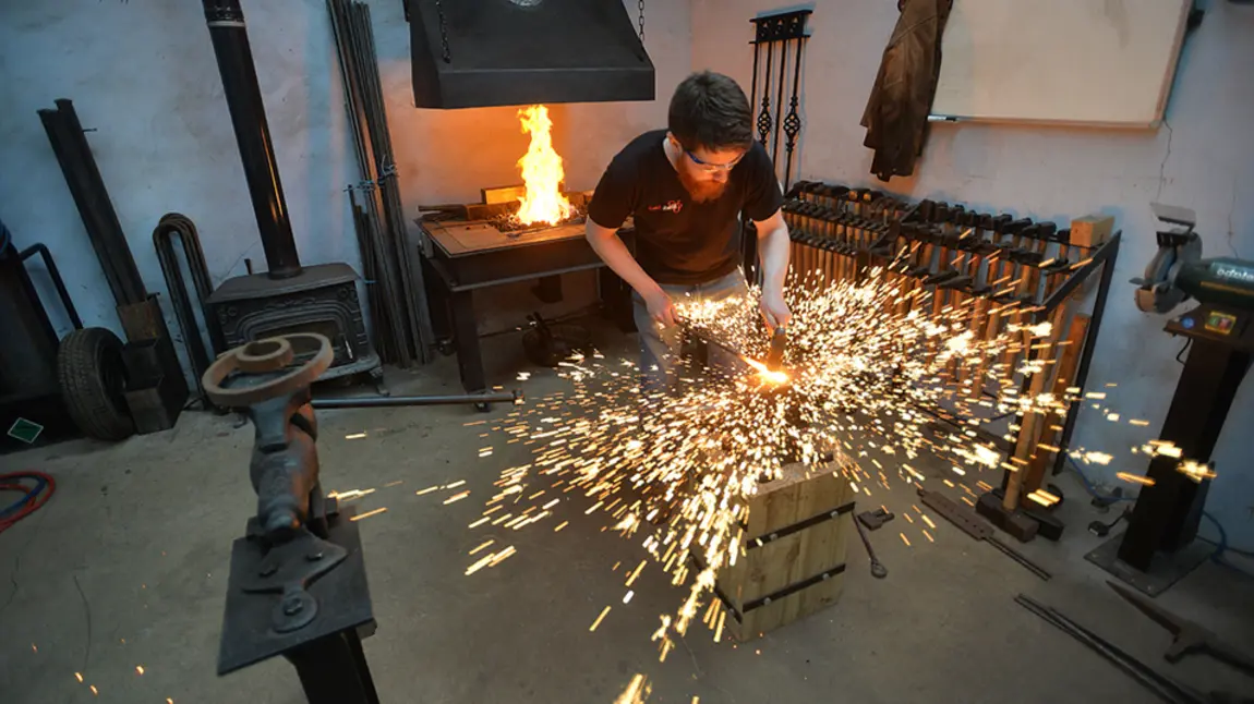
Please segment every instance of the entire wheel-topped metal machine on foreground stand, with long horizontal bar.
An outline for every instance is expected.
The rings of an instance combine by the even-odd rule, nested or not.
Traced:
[[[296,365],[293,342],[320,346]],[[211,401],[243,408],[256,428],[250,477],[257,515],[231,549],[218,675],[282,655],[310,704],[377,704],[361,639],[375,633],[361,536],[351,506],[319,481],[310,383],[330,366],[330,342],[291,334],[219,357],[204,375]],[[518,402],[520,395],[339,398],[335,408]]]

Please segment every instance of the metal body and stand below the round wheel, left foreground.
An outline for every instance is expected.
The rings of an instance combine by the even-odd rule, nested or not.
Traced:
[[[256,427],[250,474],[258,516],[231,547],[218,674],[282,655],[311,704],[377,703],[361,649],[375,631],[361,536],[354,509],[325,499],[317,481],[308,387],[246,413]],[[292,496],[305,496],[308,512],[303,525],[283,530]]]

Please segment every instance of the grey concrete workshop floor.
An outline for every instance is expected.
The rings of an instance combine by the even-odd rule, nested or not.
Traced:
[[[632,349],[631,338],[602,338],[609,349]],[[517,337],[492,339],[487,353],[502,381],[527,368]],[[456,391],[455,361],[393,373],[390,383],[394,393]],[[548,372],[524,383],[532,397],[564,386]],[[520,446],[500,443],[478,457],[483,427],[464,423],[484,417],[463,407],[319,415],[324,486],[375,487],[361,510],[387,509],[357,524],[379,621],[365,651],[382,701],[608,704],[635,673],[652,683],[651,703],[1156,700],[1016,605],[1021,591],[1195,686],[1254,693],[1254,680],[1206,658],[1162,661],[1166,631],[1125,605],[1102,584],[1106,574],[1082,559],[1099,542],[1085,531],[1097,515],[1070,477],[1060,482],[1073,497],[1060,509],[1063,541],[1023,546],[1053,572],[1048,582],[943,522],[935,544],[907,547],[898,520],[872,534],[885,580],[869,575],[853,536],[835,606],[750,645],[715,644],[695,626],[660,663],[650,634],[682,593],[653,569],[622,605],[622,571],[612,567],[635,565],[645,552],[638,541],[602,532],[599,516],[573,511],[557,534],[500,531],[518,554],[463,574],[468,550],[485,540],[466,525],[499,471],[523,458]],[[361,431],[369,437],[345,438]],[[251,443],[252,428],[233,427],[232,417],[189,412],[164,433],[0,458],[6,468],[40,468],[58,480],[44,510],[0,535],[0,701],[303,701],[281,659],[216,674],[231,542],[255,505]],[[444,506],[436,495],[415,495],[456,479],[475,500]],[[904,486],[875,500],[898,512],[914,501]],[[1254,651],[1251,584],[1204,564],[1160,601]],[[611,615],[589,633],[607,604],[614,604]]]

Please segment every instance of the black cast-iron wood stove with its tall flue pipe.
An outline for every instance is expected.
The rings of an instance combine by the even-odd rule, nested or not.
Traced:
[[[321,378],[370,372],[379,381],[382,370],[366,333],[357,273],[345,263],[302,267],[296,253],[240,0],[203,5],[270,269],[223,282],[206,302],[206,323],[228,348],[273,334],[321,333],[335,347]]]

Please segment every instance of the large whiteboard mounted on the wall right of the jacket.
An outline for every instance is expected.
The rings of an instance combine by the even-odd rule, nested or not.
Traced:
[[[954,0],[932,114],[1156,127],[1191,0]]]

